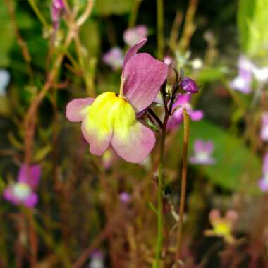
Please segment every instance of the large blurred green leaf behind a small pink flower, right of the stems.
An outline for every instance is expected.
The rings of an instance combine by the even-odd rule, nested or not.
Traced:
[[[197,138],[214,142],[215,164],[211,166],[193,165],[196,168],[202,168],[209,181],[226,190],[259,192],[257,180],[262,171],[260,159],[248,147],[245,147],[242,140],[209,121],[191,122],[190,155],[193,154],[193,142]]]

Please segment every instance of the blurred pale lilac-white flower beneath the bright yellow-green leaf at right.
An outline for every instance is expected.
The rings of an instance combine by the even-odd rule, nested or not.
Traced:
[[[252,91],[251,83],[253,68],[254,65],[249,59],[245,56],[240,56],[238,59],[238,76],[231,81],[230,87],[232,87],[233,90],[238,90],[245,94],[250,93]]]

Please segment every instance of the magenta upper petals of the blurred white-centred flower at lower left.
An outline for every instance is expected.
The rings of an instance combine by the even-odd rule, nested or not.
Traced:
[[[27,166],[23,164],[18,173],[18,182],[27,183],[30,188],[36,188],[39,184],[41,176],[41,166],[33,165]]]

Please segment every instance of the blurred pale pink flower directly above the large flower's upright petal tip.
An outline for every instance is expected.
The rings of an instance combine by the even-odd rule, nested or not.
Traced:
[[[128,28],[123,33],[123,40],[129,46],[137,44],[141,39],[147,37],[148,31],[145,25],[138,25],[134,28]]]

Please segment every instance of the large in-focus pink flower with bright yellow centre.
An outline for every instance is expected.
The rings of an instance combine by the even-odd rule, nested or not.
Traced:
[[[73,99],[66,107],[69,121],[82,121],[92,154],[102,155],[111,145],[119,157],[140,163],[154,147],[154,132],[136,114],[152,104],[169,67],[150,54],[137,54],[146,41],[142,39],[126,53],[120,95],[104,92],[96,99]]]

